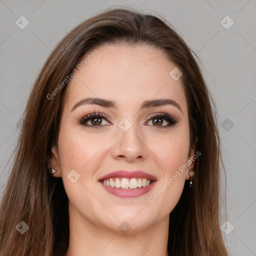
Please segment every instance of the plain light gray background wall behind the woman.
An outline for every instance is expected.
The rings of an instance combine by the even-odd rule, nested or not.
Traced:
[[[222,223],[234,226],[221,232],[232,256],[256,255],[255,0],[0,0],[0,198],[18,121],[42,64],[71,28],[115,5],[163,15],[199,56],[219,114],[228,214]],[[21,15],[29,21],[24,29],[15,23]],[[231,20],[221,23],[226,15],[234,21],[229,29],[223,22]]]

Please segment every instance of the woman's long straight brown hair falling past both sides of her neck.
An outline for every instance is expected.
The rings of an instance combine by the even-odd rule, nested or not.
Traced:
[[[190,149],[197,136],[195,151],[201,155],[194,164],[193,186],[184,186],[170,212],[167,250],[171,256],[228,255],[219,228],[223,163],[214,102],[192,50],[171,25],[130,8],[105,10],[77,25],[57,44],[38,74],[24,111],[1,201],[0,255],[65,255],[69,239],[68,201],[62,179],[48,173],[50,148],[58,137],[66,77],[86,52],[106,43],[161,49],[182,71]],[[15,228],[20,221],[29,227],[24,234]]]

